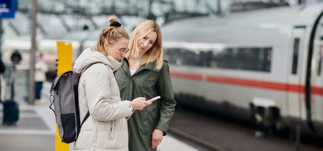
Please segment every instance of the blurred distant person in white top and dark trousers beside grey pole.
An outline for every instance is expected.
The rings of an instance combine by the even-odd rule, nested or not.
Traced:
[[[46,81],[46,72],[48,70],[47,64],[42,59],[42,53],[36,52],[35,53],[35,103],[42,104],[44,103],[43,100],[41,100],[41,90],[43,86],[43,82]]]

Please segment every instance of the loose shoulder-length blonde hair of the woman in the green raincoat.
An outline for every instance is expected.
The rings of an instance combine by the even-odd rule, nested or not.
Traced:
[[[154,31],[157,34],[157,39],[151,46],[151,48],[146,51],[142,58],[140,65],[150,65],[150,63],[156,60],[155,69],[159,70],[163,67],[163,48],[161,47],[161,31],[157,23],[152,20],[145,20],[141,22],[132,32],[131,40],[129,43],[129,52],[126,54],[126,58],[129,59],[130,56],[138,57],[138,40],[145,37],[149,32]]]

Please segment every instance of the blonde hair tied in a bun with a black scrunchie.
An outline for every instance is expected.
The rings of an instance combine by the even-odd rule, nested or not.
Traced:
[[[104,42],[109,42],[109,44],[114,44],[120,38],[129,39],[129,35],[125,28],[121,26],[121,24],[117,20],[117,16],[113,15],[109,18],[110,26],[105,26],[102,29],[102,32],[99,35],[97,40],[95,51],[101,52],[103,55],[107,56],[107,51],[104,50]],[[120,26],[115,26],[112,24],[120,24]]]

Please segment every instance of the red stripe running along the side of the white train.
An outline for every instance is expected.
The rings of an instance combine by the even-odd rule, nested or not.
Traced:
[[[184,72],[171,71],[170,75],[171,77],[175,77],[175,78],[202,81],[202,75],[197,73],[184,73]],[[229,78],[229,77],[221,77],[221,76],[214,76],[214,75],[206,75],[205,80],[207,82],[212,82],[212,83],[238,85],[238,86],[270,89],[270,90],[277,90],[277,91],[289,91],[289,92],[295,92],[295,93],[305,93],[305,86],[303,85],[292,85],[292,84],[286,84],[286,83],[267,82],[267,81],[258,81],[258,80],[250,80],[250,79]],[[323,88],[312,86],[311,94],[323,96]]]

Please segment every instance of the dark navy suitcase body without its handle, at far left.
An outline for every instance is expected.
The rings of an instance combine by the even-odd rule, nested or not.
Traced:
[[[3,124],[11,125],[17,122],[19,119],[18,103],[13,100],[6,100],[3,102],[3,106],[4,106]]]

